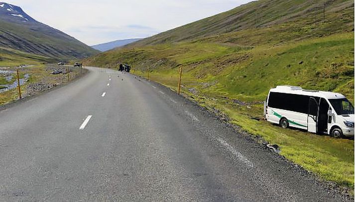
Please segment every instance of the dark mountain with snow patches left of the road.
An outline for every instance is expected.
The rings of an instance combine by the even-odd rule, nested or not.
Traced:
[[[55,59],[84,58],[98,51],[27,15],[20,7],[0,2],[0,47]]]

